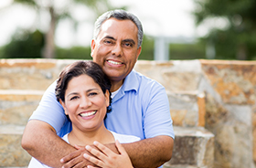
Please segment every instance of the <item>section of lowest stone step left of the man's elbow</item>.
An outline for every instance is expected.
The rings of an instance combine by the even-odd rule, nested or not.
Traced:
[[[24,126],[0,127],[0,167],[26,167],[30,155],[21,147]]]

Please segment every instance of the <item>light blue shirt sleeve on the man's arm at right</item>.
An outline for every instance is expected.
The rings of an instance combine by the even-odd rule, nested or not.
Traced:
[[[152,138],[168,135],[175,139],[173,121],[169,109],[169,101],[165,88],[157,82],[147,87],[146,107],[144,107],[144,136]]]

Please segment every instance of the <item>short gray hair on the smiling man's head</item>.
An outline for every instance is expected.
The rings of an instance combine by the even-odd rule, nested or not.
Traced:
[[[144,37],[144,30],[141,21],[138,19],[137,16],[134,16],[132,13],[126,12],[122,9],[116,9],[112,11],[108,11],[101,16],[98,17],[98,19],[95,22],[94,25],[94,39],[96,40],[101,32],[101,25],[104,21],[115,18],[118,20],[131,20],[138,28],[138,48],[142,46],[143,43],[143,37]]]

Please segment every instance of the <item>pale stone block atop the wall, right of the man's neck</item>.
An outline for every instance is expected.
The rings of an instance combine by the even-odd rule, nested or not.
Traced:
[[[160,82],[166,90],[195,91],[201,79],[198,60],[138,61],[135,70]]]

